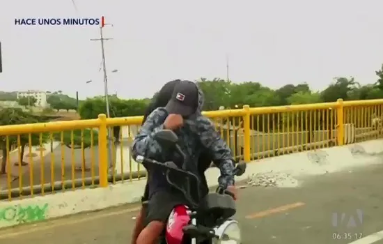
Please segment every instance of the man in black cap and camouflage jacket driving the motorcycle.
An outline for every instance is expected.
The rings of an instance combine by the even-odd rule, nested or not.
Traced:
[[[187,170],[198,174],[197,160],[201,152],[208,150],[212,159],[219,162],[221,169],[219,185],[235,195],[234,164],[230,148],[214,130],[212,122],[201,115],[203,93],[194,82],[182,81],[175,84],[171,100],[166,107],[155,109],[136,135],[132,155],[143,155],[160,162],[173,161],[181,165],[183,158],[174,151],[166,150],[153,139],[153,132],[168,129],[179,137],[179,146],[187,155]],[[145,165],[144,165],[145,166]],[[177,190],[171,188],[162,171],[147,167],[149,201],[146,227],[136,239],[137,244],[152,244],[164,230],[166,220],[173,208],[187,201]],[[177,181],[177,179],[175,179]],[[182,179],[178,178],[182,184]]]

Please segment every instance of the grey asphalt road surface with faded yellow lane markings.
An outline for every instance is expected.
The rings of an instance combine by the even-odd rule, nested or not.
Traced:
[[[366,165],[350,171],[299,178],[300,188],[249,186],[241,189],[235,218],[242,227],[242,243],[383,244],[382,235],[370,236],[383,230],[382,177],[383,165]],[[138,207],[120,206],[3,229],[0,243],[130,243],[132,216]],[[357,209],[363,211],[362,223],[357,220]],[[347,228],[345,223],[333,227],[333,213],[354,214],[357,227]],[[356,242],[367,236],[382,239]]]

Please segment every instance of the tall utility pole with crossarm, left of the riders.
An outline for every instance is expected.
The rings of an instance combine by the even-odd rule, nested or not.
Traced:
[[[113,24],[104,24],[106,25],[111,25]],[[103,27],[100,27],[100,38],[97,39],[91,39],[95,41],[101,41],[101,53],[102,53],[102,70],[104,71],[104,96],[105,96],[105,105],[107,108],[107,117],[110,118],[110,109],[109,109],[109,94],[108,94],[108,77],[107,77],[107,66],[105,62],[105,49],[104,49],[104,40],[113,40],[113,38],[104,38],[102,35],[102,29]],[[112,142],[113,138],[111,137],[111,128],[108,128],[108,144],[109,144],[109,168],[113,168],[113,151],[112,151]]]

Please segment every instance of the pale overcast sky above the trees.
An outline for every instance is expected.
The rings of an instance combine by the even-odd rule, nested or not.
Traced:
[[[171,79],[226,77],[277,88],[336,76],[375,82],[383,63],[382,0],[0,0],[3,91],[102,94],[100,29],[15,26],[15,18],[100,17],[109,92],[150,97]],[[118,73],[110,73],[118,69]],[[86,84],[92,79],[93,83]]]

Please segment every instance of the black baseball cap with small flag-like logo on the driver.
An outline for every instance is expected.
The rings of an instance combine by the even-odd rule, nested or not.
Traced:
[[[165,108],[169,114],[180,114],[187,117],[194,114],[197,107],[197,85],[194,82],[183,80],[175,84],[171,99]]]

